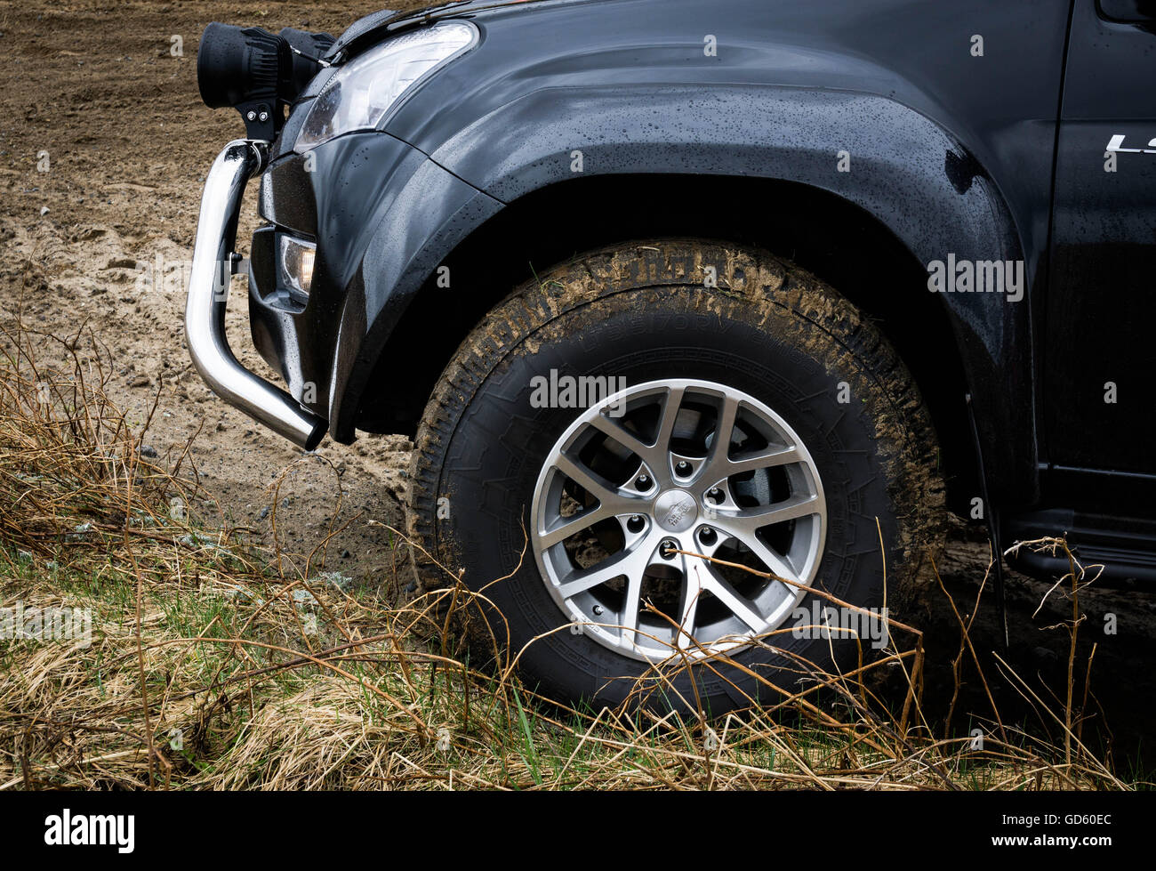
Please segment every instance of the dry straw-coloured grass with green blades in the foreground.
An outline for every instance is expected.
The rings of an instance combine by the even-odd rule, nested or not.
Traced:
[[[849,674],[800,663],[815,678],[808,689],[761,709],[716,719],[562,709],[519,684],[518,651],[484,671],[465,662],[449,627],[476,601],[453,571],[444,589],[391,603],[325,582],[324,547],[297,573],[254,551],[246,530],[200,517],[190,507],[206,494],[183,474],[188,463],[141,458],[148,421],[131,427],[109,401],[95,341],[67,340],[73,371],[54,376],[32,353],[47,340],[2,342],[0,606],[89,608],[91,644],[0,641],[0,789],[1135,785],[1082,743],[1089,691],[1075,685],[1075,639],[1090,580],[1074,561],[1064,582],[1073,618],[1060,627],[1072,635],[1069,679],[1053,696],[998,657],[986,673],[970,618],[951,603],[957,686],[965,672],[985,687],[1006,681],[1061,746],[1003,722],[991,692],[984,711],[953,702],[929,722],[921,636],[895,623],[881,659]],[[1067,552],[1060,540],[1033,546]],[[668,689],[684,667],[672,656],[638,694]],[[883,695],[876,676],[894,685],[897,673],[905,692]]]

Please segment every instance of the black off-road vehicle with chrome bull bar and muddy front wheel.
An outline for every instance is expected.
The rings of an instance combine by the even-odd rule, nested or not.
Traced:
[[[206,182],[190,350],[306,450],[412,434],[410,533],[561,699],[676,660],[666,688],[718,711],[881,645],[947,510],[1151,581],[1154,25],[1149,0],[213,24],[201,94],[247,138]],[[246,264],[288,392],[224,341]]]

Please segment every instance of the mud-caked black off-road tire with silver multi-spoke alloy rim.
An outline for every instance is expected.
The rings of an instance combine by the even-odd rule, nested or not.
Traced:
[[[596,399],[622,385],[624,398],[618,407],[587,406],[575,396],[568,401],[564,390],[543,393],[555,383],[551,371],[562,386],[578,376],[614,378]],[[672,397],[680,397],[679,416],[670,415],[676,438],[667,443],[677,445],[675,458],[659,443]],[[738,423],[720,457],[713,434],[726,431],[732,406]],[[606,429],[607,419],[620,428]],[[620,442],[603,430],[625,435]],[[703,489],[706,478],[735,467],[719,464],[779,450],[802,459]],[[704,477],[683,481],[680,462],[691,479]],[[815,613],[813,603],[830,605],[809,589],[862,608],[885,605],[892,617],[907,613],[928,583],[920,580],[924,556],[941,537],[936,464],[935,435],[911,375],[831,288],[764,252],[683,239],[623,244],[521,286],[462,342],[417,431],[408,527],[444,566],[465,567],[467,586],[486,588],[501,612],[483,608],[486,618],[503,639],[504,619],[510,651],[538,639],[518,660],[531,689],[565,703],[643,699],[717,715],[773,702],[816,670],[857,662],[854,640],[799,628],[814,625],[801,617]],[[652,466],[653,480],[644,474]],[[642,478],[653,489],[635,496]],[[636,504],[637,517],[618,516]],[[785,504],[795,505],[793,519],[751,532],[762,522],[755,514]],[[581,523],[583,511],[607,516],[551,542],[575,510]],[[635,538],[639,521],[644,532]],[[718,559],[780,576],[794,571],[799,585],[661,542],[653,549],[657,537],[674,536],[664,541],[705,553],[711,532]],[[629,541],[637,541],[633,549]],[[615,554],[633,574],[566,598],[593,573],[607,574]],[[773,561],[784,554],[788,562]],[[487,586],[497,578],[504,580]],[[661,613],[642,605],[635,618],[631,603],[643,595]],[[761,622],[780,613],[787,617],[775,626]],[[680,632],[683,619],[698,647]],[[754,636],[761,642],[751,643]],[[475,660],[491,658],[492,645],[492,636],[476,633]],[[665,665],[657,664],[661,649],[673,654]],[[696,659],[704,652],[714,655],[709,667]],[[658,672],[667,677],[655,680]],[[654,692],[639,694],[646,687]]]

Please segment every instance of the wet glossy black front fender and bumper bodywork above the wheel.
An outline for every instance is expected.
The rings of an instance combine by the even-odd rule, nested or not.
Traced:
[[[1023,301],[944,294],[942,304],[957,341],[944,353],[964,362],[993,496],[1030,504],[1051,426],[1039,329],[1070,304],[1046,287],[1069,12],[1066,0],[452,5],[436,15],[473,21],[480,44],[383,132],[314,149],[305,174],[286,156],[295,110],[261,207],[318,238],[317,280],[301,313],[264,302],[254,280],[254,338],[291,386],[317,384],[311,407],[349,440],[378,356],[437,265],[505,204],[573,179],[573,150],[586,176],[801,182],[870,212],[922,264],[1025,261]],[[717,57],[704,54],[706,35]],[[1099,80],[1085,87],[1095,94]],[[840,174],[844,149],[852,171]]]

